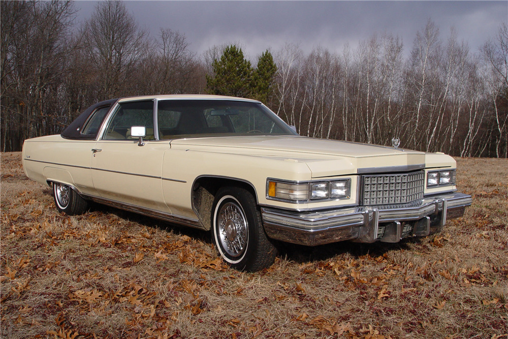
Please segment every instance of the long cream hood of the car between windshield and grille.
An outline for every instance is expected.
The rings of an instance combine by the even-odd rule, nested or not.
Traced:
[[[425,164],[426,160],[426,153],[420,151],[298,136],[176,139],[171,141],[171,147],[304,162],[314,178],[366,172],[369,169],[376,172],[383,167],[390,170],[394,167],[414,168],[415,165]],[[448,158],[446,161],[449,162]]]

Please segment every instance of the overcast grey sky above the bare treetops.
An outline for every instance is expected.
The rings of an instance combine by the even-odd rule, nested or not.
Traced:
[[[75,3],[78,20],[90,17],[96,1]],[[476,52],[508,21],[508,1],[126,1],[137,22],[156,36],[160,28],[185,35],[189,48],[202,53],[213,45],[238,43],[256,59],[266,49],[300,44],[305,52],[322,46],[342,51],[372,34],[402,38],[411,49],[416,33],[430,18],[446,40],[458,38]]]

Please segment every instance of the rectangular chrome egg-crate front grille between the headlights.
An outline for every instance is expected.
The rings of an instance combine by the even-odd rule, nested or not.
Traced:
[[[425,172],[363,175],[363,205],[408,203],[423,198]]]

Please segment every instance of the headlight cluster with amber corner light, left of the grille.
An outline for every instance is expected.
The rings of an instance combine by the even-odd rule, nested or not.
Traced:
[[[267,198],[291,202],[348,199],[351,195],[351,179],[316,182],[268,179],[266,186]]]

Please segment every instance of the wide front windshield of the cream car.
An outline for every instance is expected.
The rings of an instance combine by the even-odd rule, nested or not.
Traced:
[[[161,100],[160,139],[233,135],[296,135],[260,103],[227,100]]]

